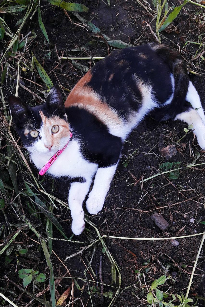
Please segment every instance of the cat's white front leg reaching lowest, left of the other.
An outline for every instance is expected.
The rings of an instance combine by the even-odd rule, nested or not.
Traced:
[[[90,181],[73,182],[70,184],[68,193],[68,204],[72,216],[72,231],[75,235],[80,235],[85,228],[84,212],[82,203],[90,189]]]

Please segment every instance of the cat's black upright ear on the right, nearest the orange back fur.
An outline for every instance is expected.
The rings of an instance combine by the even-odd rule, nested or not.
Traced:
[[[46,106],[56,111],[65,112],[65,106],[62,99],[61,88],[57,84],[51,88],[48,97],[46,99]]]

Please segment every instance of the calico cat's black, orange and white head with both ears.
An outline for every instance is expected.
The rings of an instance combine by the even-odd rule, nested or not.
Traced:
[[[16,131],[31,153],[50,156],[67,143],[70,129],[58,85],[52,87],[40,106],[30,107],[15,96],[8,100]]]

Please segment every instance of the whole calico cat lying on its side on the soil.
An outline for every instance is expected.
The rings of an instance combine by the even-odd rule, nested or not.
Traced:
[[[199,95],[179,54],[164,45],[112,52],[82,77],[65,103],[55,85],[43,105],[30,107],[14,96],[9,97],[9,105],[35,166],[52,177],[70,178],[68,204],[76,235],[85,227],[82,203],[86,195],[89,193],[87,211],[97,214],[123,142],[146,115],[193,124],[199,146],[205,149],[205,116]],[[43,168],[49,159],[54,163]]]

